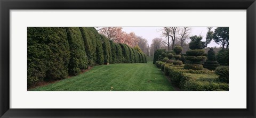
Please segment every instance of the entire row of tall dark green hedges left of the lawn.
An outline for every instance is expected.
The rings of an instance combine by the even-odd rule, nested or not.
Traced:
[[[28,27],[27,83],[77,75],[93,65],[147,63],[146,55],[116,44],[93,27]]]

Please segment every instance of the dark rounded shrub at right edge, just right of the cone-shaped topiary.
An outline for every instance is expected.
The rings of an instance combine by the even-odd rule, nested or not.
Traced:
[[[217,54],[217,61],[220,65],[228,65],[229,64],[229,50],[228,49],[221,49]]]

